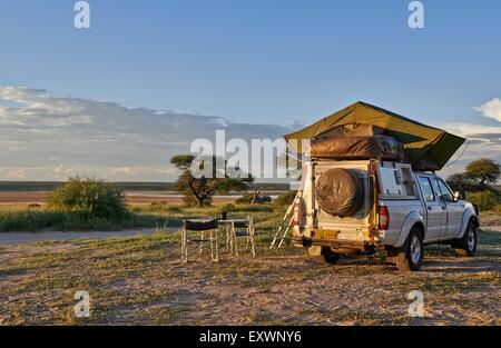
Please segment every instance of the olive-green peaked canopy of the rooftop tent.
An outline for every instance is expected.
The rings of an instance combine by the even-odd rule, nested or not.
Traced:
[[[382,108],[356,102],[299,131],[285,136],[287,141],[312,141],[340,136],[390,136],[403,145],[404,160],[415,170],[440,170],[465,139],[429,127]]]

